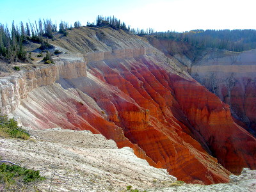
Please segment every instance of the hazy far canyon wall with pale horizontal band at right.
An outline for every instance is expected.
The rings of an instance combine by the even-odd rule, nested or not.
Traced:
[[[256,51],[196,50],[186,42],[147,37],[150,44],[188,68],[189,74],[227,103],[237,124],[256,136]]]

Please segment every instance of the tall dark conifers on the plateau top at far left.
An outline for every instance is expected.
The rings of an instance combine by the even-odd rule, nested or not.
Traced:
[[[74,22],[74,27],[68,22],[61,21],[59,24],[59,32],[67,36],[68,29],[80,28],[81,23],[79,21]],[[21,60],[28,59],[28,52],[24,49],[24,44],[27,41],[38,42],[41,44],[40,49],[46,49],[51,45],[44,40],[44,38],[54,38],[53,33],[57,31],[57,23],[52,23],[51,19],[39,19],[38,22],[27,22],[20,25],[15,25],[12,22],[12,28],[8,28],[7,25],[0,23],[0,58],[13,63]]]

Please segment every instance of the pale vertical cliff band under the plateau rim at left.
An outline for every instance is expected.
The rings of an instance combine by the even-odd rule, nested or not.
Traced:
[[[57,64],[1,77],[1,112],[11,113],[20,105],[21,99],[26,99],[29,92],[58,81],[60,76],[66,79],[86,76],[86,63],[82,58],[63,58]]]

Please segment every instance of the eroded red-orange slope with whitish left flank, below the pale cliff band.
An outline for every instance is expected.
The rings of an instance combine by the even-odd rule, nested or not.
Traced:
[[[186,182],[227,182],[230,173],[217,159],[234,173],[255,168],[255,139],[233,122],[226,104],[190,77],[168,72],[150,56],[88,63],[88,72],[95,76],[60,81],[65,89],[56,84],[29,93],[45,110],[26,100],[22,106],[45,128],[101,133]]]

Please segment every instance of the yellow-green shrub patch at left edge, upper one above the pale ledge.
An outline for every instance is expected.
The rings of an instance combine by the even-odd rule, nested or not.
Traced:
[[[7,115],[0,115],[0,136],[4,138],[20,138],[28,140],[30,135],[18,126],[18,123],[14,118],[8,120]]]

